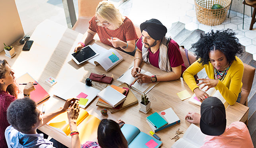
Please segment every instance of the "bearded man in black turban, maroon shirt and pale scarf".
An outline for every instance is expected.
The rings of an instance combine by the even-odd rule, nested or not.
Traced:
[[[140,30],[142,37],[136,44],[138,49],[134,55],[132,76],[136,77],[139,83],[179,79],[186,67],[178,44],[165,36],[167,28],[159,20],[150,19],[140,25]],[[142,61],[168,73],[157,76],[140,74]]]

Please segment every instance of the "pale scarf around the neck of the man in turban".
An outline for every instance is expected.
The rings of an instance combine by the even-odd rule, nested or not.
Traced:
[[[168,44],[171,39],[167,37],[163,37],[160,47],[159,47],[159,59],[158,59],[158,65],[159,68],[163,71],[171,72],[171,64],[169,61],[168,56]],[[167,43],[168,42],[168,43]],[[149,56],[148,56],[149,49],[145,48],[142,42],[142,57],[145,63],[149,63]],[[150,63],[149,63],[150,64]]]

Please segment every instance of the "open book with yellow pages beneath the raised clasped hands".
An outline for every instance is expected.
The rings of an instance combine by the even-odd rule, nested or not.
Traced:
[[[78,125],[79,138],[81,143],[85,143],[88,140],[93,140],[97,138],[97,130],[101,120],[93,115],[89,115],[88,112],[80,108],[78,119],[76,124]],[[68,123],[67,112],[59,114],[52,120],[50,120],[48,125],[54,127],[58,131],[70,136],[70,126]]]

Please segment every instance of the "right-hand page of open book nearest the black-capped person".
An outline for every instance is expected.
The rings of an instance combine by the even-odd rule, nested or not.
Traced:
[[[199,127],[194,124],[191,124],[187,131],[184,133],[183,139],[194,144],[196,147],[204,145],[204,138],[206,135],[202,133]]]

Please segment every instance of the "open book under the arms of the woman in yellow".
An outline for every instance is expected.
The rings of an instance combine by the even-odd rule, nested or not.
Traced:
[[[202,90],[202,91],[205,91],[206,88],[207,88],[207,86],[204,87],[204,88],[201,89],[201,90]],[[221,102],[224,104],[225,108],[227,109],[227,107],[229,106],[229,103],[222,97],[222,95],[221,95],[221,93],[219,92],[219,90],[215,89],[214,87],[211,87],[210,89],[208,89],[208,91],[205,91],[205,92],[209,95],[209,97],[211,96],[211,97],[217,97],[217,98],[219,98],[219,99],[221,100]],[[201,106],[201,104],[202,104],[202,103],[200,102],[200,100],[196,97],[196,94],[195,94],[195,93],[194,93],[194,94],[192,95],[192,97],[188,100],[188,102],[193,103],[193,104],[196,104],[196,105],[199,105],[199,106]]]

